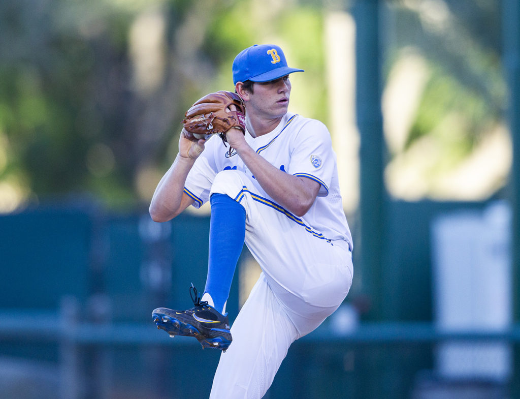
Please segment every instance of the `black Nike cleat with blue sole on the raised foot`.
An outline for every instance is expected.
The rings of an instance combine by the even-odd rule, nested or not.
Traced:
[[[152,312],[153,322],[170,337],[195,337],[203,348],[212,347],[226,352],[232,341],[227,313],[223,315],[207,301],[201,302],[193,285],[190,296],[195,305],[191,309],[176,311],[158,307]]]

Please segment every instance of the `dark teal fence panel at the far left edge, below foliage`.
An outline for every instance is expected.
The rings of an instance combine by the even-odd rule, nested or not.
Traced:
[[[78,209],[0,217],[0,307],[54,309],[62,295],[85,299],[92,229]]]

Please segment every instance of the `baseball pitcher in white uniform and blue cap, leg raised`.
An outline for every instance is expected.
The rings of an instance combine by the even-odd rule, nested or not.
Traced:
[[[179,153],[150,204],[153,220],[165,222],[210,201],[206,286],[202,297],[190,288],[189,310],[162,307],[152,317],[172,336],[223,351],[210,398],[259,399],[291,343],[345,299],[353,247],[329,131],[288,111],[289,75],[303,70],[288,67],[282,49],[268,44],[244,49],[232,71],[240,98],[225,112],[241,120],[243,102],[244,123],[223,140],[198,139],[185,123]],[[204,113],[193,120],[200,125]],[[244,242],[262,274],[230,328],[226,301]]]

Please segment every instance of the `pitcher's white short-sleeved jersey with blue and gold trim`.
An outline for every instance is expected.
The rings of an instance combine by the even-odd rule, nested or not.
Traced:
[[[327,127],[314,119],[287,113],[272,132],[253,138],[245,134],[247,143],[269,163],[295,176],[304,176],[321,187],[318,198],[309,211],[297,218],[283,208],[281,212],[303,223],[309,233],[326,240],[344,240],[352,250],[352,236],[343,211],[337,177],[336,155],[332,150]],[[236,152],[228,155],[228,149],[217,137],[206,142],[205,149],[190,171],[185,192],[193,198],[193,206],[198,208],[209,199],[210,189],[216,174],[228,169],[236,169],[250,177],[246,165]],[[258,194],[279,207],[256,184]]]

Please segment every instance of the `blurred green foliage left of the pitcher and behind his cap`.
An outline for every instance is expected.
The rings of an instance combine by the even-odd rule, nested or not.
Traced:
[[[11,202],[74,192],[112,208],[146,204],[173,160],[184,110],[207,92],[232,90],[232,59],[254,43],[281,43],[291,63],[305,65],[307,92],[323,100],[309,109],[323,116],[320,13],[275,3],[1,2],[0,182],[10,182]],[[164,63],[143,88],[147,54]]]

